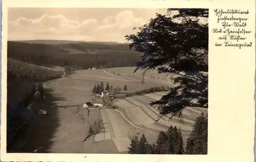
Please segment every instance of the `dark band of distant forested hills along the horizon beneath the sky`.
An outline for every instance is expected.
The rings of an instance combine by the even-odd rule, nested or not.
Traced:
[[[115,42],[8,41],[8,58],[35,65],[73,66],[78,69],[135,66],[141,53]],[[39,44],[38,42],[45,42]]]

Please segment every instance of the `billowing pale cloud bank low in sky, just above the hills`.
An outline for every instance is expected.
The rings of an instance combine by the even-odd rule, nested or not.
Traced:
[[[101,22],[98,22],[95,18],[75,21],[67,19],[63,15],[47,14],[34,19],[19,17],[14,21],[8,22],[8,39],[69,39],[124,42],[124,35],[131,34],[134,27],[141,26],[147,21],[147,16],[136,17],[130,10],[106,16]]]

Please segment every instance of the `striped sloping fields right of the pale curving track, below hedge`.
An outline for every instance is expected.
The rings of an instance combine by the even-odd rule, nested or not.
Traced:
[[[156,140],[156,134],[160,130],[166,130],[170,125],[177,126],[181,128],[183,133],[183,138],[186,140],[189,133],[192,130],[196,117],[198,117],[204,109],[196,109],[196,111],[191,111],[191,109],[185,108],[184,115],[182,116],[182,121],[173,117],[171,120],[169,117],[163,117],[157,122],[159,112],[156,108],[148,105],[151,101],[156,100],[156,96],[161,97],[164,93],[153,93],[145,94],[144,96],[133,96],[127,97],[125,99],[119,99],[115,101],[115,105],[118,106],[118,111],[122,112],[125,118],[129,119],[133,124],[143,128],[142,133],[146,134],[148,141]],[[150,131],[145,131],[150,130]],[[153,132],[152,132],[153,131]]]

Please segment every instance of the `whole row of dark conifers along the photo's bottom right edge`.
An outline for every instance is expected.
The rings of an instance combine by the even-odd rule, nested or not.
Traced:
[[[187,142],[184,143],[182,132],[176,126],[161,131],[155,143],[149,144],[142,134],[133,138],[130,154],[207,154],[208,115],[203,113],[196,119]]]

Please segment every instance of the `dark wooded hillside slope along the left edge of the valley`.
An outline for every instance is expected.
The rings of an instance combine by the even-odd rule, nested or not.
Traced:
[[[31,113],[26,107],[33,99],[36,82],[61,77],[62,72],[7,60],[7,144],[11,143],[20,126],[29,122]]]

